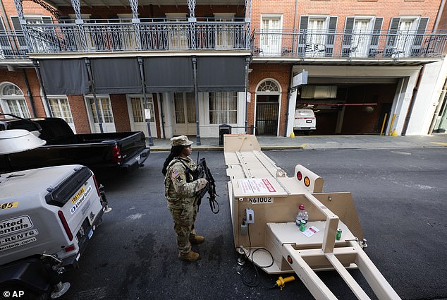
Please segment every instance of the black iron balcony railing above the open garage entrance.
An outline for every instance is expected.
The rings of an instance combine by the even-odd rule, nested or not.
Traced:
[[[443,57],[447,31],[380,32],[359,30],[255,30],[253,56],[289,56],[302,59],[412,59]]]

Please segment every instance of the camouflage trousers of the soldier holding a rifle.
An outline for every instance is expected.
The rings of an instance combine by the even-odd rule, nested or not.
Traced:
[[[184,208],[169,207],[173,221],[174,231],[177,234],[177,246],[180,253],[188,253],[191,251],[190,239],[197,234],[194,229],[194,223],[197,218],[197,199]]]

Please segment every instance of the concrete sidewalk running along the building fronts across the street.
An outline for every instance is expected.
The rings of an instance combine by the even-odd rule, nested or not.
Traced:
[[[195,150],[224,150],[219,145],[219,138],[200,138],[201,144],[196,144],[196,137],[189,136],[194,142]],[[393,149],[393,148],[446,148],[447,134],[438,133],[432,136],[257,136],[262,150],[333,150],[333,149]],[[154,138],[151,151],[169,151],[169,138]]]

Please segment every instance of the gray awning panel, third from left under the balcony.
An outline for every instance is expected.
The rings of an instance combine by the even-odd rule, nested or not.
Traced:
[[[145,58],[146,92],[191,92],[192,60],[190,57]]]

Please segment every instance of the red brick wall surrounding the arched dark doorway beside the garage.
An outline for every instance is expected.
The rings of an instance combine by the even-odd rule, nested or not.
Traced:
[[[248,91],[251,93],[251,102],[247,104],[247,125],[250,127],[255,122],[256,88],[263,80],[271,78],[281,85],[281,109],[279,115],[279,135],[286,134],[286,118],[288,85],[290,83],[290,66],[286,64],[252,64],[251,73],[248,76]]]

